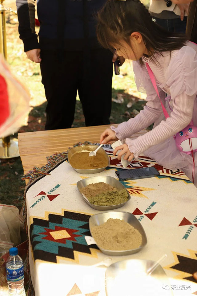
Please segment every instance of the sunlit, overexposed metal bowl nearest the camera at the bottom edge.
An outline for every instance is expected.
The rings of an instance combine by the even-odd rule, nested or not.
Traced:
[[[111,264],[105,273],[106,295],[172,296],[170,281],[161,265],[148,275],[147,270],[155,263],[130,259]]]

